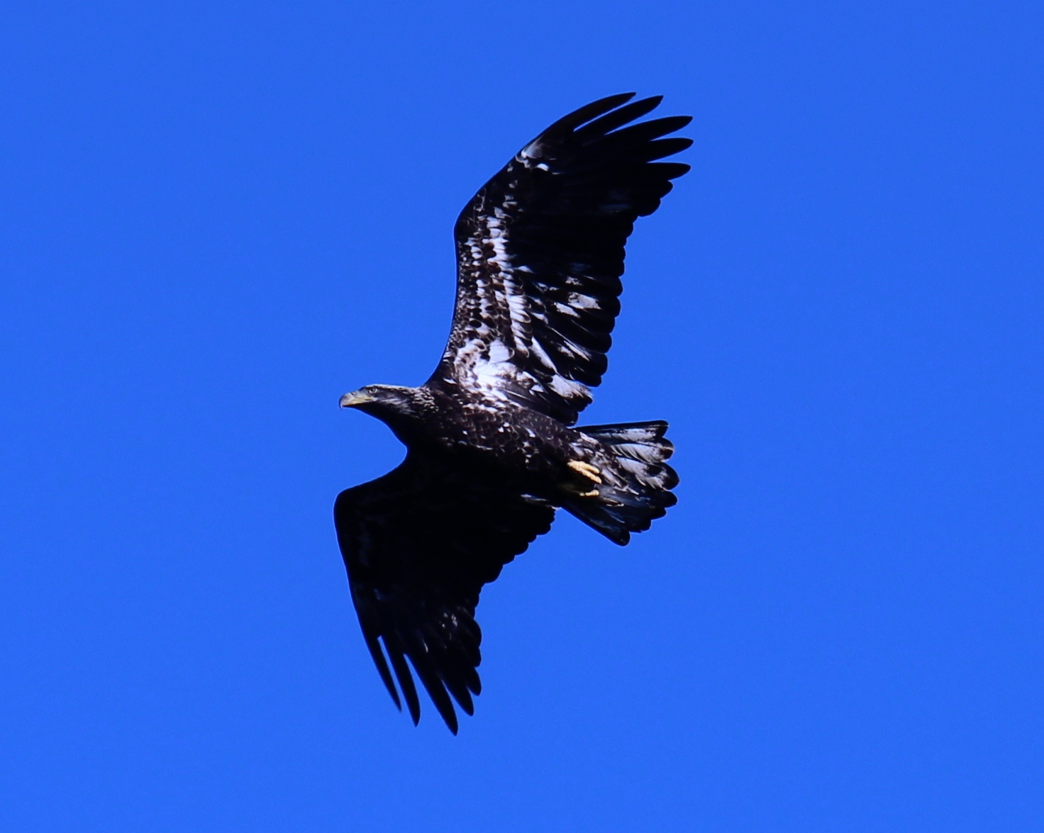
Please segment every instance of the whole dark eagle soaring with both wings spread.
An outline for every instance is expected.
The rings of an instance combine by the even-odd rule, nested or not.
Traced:
[[[692,144],[669,137],[691,117],[636,123],[662,96],[632,98],[554,122],[465,207],[453,326],[431,378],[341,397],[407,448],[399,468],[337,496],[334,525],[366,647],[414,723],[409,665],[451,732],[452,700],[474,713],[478,594],[555,508],[623,545],[675,502],[665,422],[575,426],[606,373],[635,219],[689,169],[659,160]]]

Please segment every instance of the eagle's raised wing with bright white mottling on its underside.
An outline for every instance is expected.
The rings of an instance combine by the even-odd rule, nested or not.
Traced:
[[[453,328],[432,380],[567,425],[606,372],[623,246],[688,165],[656,162],[688,116],[630,124],[661,97],[610,96],[560,119],[488,182],[456,222]]]

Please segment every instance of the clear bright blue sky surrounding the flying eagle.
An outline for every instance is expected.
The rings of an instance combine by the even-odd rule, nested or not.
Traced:
[[[722,10],[721,6],[728,6]],[[0,827],[1036,831],[1031,3],[5,3]],[[358,633],[451,228],[599,96],[695,116],[589,422],[680,503],[487,589],[452,737]]]

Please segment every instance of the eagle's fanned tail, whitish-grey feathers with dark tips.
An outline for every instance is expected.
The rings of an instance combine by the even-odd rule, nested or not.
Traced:
[[[671,493],[678,475],[666,460],[674,446],[664,434],[667,423],[589,425],[576,430],[594,437],[616,458],[623,479],[607,478],[597,497],[580,497],[565,504],[569,513],[621,546],[632,532],[642,532],[678,502]]]

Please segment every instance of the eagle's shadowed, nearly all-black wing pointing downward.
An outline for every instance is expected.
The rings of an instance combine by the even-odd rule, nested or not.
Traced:
[[[479,591],[550,529],[553,518],[546,501],[413,451],[398,469],[337,496],[334,525],[362,635],[402,708],[383,641],[414,723],[421,706],[403,658],[456,734],[447,690],[468,714],[472,692],[480,690]]]

